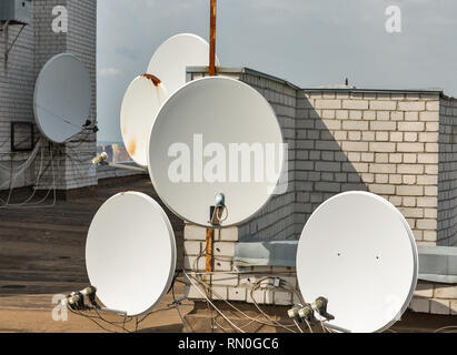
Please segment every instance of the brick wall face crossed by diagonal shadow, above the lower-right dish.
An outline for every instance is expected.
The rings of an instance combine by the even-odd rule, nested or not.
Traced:
[[[304,91],[298,103],[298,231],[334,194],[364,190],[437,242],[439,94]]]

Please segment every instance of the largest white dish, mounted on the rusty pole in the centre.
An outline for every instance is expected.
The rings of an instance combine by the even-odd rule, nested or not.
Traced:
[[[219,200],[228,212],[222,226],[236,225],[275,193],[285,165],[282,142],[276,114],[259,92],[237,80],[203,78],[160,109],[149,139],[149,173],[160,199],[181,219],[211,226],[210,207]]]

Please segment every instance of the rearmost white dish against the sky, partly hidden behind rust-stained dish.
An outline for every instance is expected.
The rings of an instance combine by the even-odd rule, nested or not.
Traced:
[[[148,73],[161,80],[171,95],[186,84],[187,67],[208,67],[209,44],[202,38],[182,33],[165,41],[155,52]],[[216,58],[216,65],[219,61]]]

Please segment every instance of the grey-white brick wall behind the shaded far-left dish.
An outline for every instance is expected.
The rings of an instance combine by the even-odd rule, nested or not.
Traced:
[[[52,8],[64,6],[69,13],[68,33],[54,33],[51,29]],[[10,27],[10,42],[14,39],[19,27]],[[32,112],[36,78],[42,65],[54,54],[70,52],[83,61],[92,78],[92,106],[89,119],[95,120],[96,109],[96,31],[97,1],[93,0],[34,0],[32,2],[32,21],[26,27],[13,47],[7,69],[0,65],[0,161],[23,162],[29,153],[10,152],[10,122],[34,122]],[[0,49],[3,60],[4,48]],[[36,130],[37,138],[40,138]],[[47,190],[53,185],[59,190],[70,190],[97,184],[96,169],[91,159],[96,155],[96,134],[80,134],[66,145],[43,142],[46,152],[44,174],[38,190]],[[50,150],[54,160],[54,173],[50,163]],[[39,154],[39,158],[41,154]],[[18,180],[16,187],[33,184],[37,181],[41,159],[26,171]],[[52,176],[54,175],[54,176]],[[2,180],[9,179],[4,173]]]

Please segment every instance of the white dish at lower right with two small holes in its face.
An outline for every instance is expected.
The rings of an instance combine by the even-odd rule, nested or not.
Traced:
[[[401,213],[367,192],[321,204],[297,252],[305,302],[324,296],[330,324],[354,333],[383,332],[399,321],[417,284],[415,237]]]

